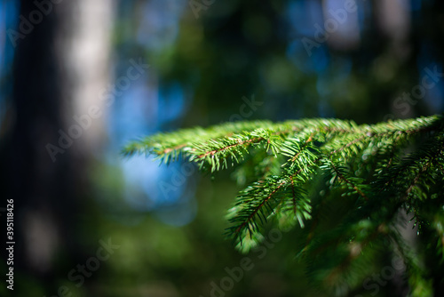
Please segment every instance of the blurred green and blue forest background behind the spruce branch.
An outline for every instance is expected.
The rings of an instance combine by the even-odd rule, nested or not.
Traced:
[[[128,160],[123,144],[226,121],[441,113],[443,40],[439,0],[4,0],[0,214],[4,232],[13,198],[14,295],[210,296],[244,257],[223,235],[233,175]],[[97,261],[104,242],[118,247]],[[295,244],[287,233],[250,255],[224,294],[328,295]],[[374,292],[337,294],[399,289]]]

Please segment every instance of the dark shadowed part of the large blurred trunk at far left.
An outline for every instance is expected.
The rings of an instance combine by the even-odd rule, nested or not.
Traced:
[[[91,145],[87,146],[90,150],[84,149],[84,144],[91,139],[89,133],[102,132],[97,129],[100,121],[95,120],[96,127],[83,132],[83,139],[74,140],[71,146],[63,148],[63,153],[59,150],[51,154],[51,146],[48,146],[60,148],[59,131],[68,132],[73,124],[78,103],[75,93],[85,88],[84,82],[78,81],[82,73],[75,72],[79,68],[78,61],[67,60],[67,50],[75,44],[73,38],[79,36],[76,30],[83,26],[79,21],[82,16],[80,2],[52,4],[48,1],[52,4],[51,12],[42,13],[43,20],[17,39],[12,101],[8,110],[12,120],[0,144],[0,185],[4,198],[14,201],[15,293],[26,284],[20,279],[21,272],[43,282],[48,292],[51,291],[49,295],[55,294],[59,285],[56,279],[66,278],[70,269],[84,261],[75,228],[82,203],[80,198],[85,196],[87,189],[84,176],[87,175],[89,153],[94,149]],[[39,10],[34,0],[20,1],[20,16],[26,20],[36,11]],[[86,14],[91,19],[91,13]],[[16,31],[23,33],[20,28]],[[102,54],[103,66],[107,63],[107,52]],[[87,73],[88,67],[97,68],[97,65],[83,67]],[[103,76],[107,78],[106,73]],[[95,145],[97,148],[97,143]],[[6,226],[5,217],[2,215],[2,229]],[[4,248],[1,253],[6,259]]]

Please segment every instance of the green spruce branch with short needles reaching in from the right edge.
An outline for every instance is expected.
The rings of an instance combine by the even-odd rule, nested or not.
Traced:
[[[290,252],[339,295],[387,253],[400,260],[410,295],[444,285],[443,116],[227,123],[148,136],[123,153],[166,164],[183,157],[211,173],[234,167],[244,189],[228,211],[227,236],[246,253],[270,226],[293,229]],[[417,245],[403,235],[408,221]]]

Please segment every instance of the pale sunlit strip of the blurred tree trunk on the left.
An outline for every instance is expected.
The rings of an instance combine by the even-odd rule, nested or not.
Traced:
[[[82,136],[75,141],[75,148],[90,155],[97,152],[105,138],[107,107],[101,93],[110,84],[111,38],[115,14],[114,0],[76,0],[61,7],[67,17],[67,26],[60,28],[57,38],[59,63],[67,69],[64,99],[67,125],[85,119]],[[97,107],[99,116],[91,118],[90,109]]]

